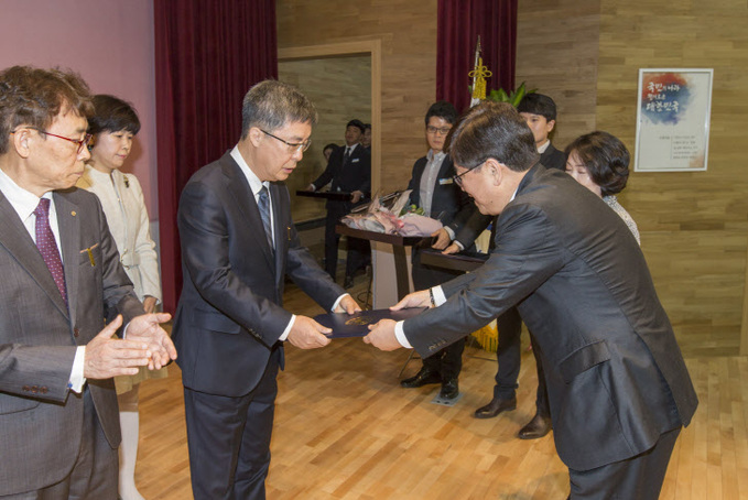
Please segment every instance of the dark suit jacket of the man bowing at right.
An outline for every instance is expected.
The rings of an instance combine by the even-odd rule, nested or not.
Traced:
[[[532,167],[486,264],[442,289],[445,304],[405,320],[409,341],[429,356],[519,304],[570,468],[636,456],[689,424],[696,394],[644,257],[621,218],[568,175]]]

